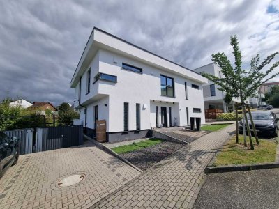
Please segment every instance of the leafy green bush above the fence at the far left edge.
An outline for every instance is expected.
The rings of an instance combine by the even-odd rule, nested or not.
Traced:
[[[20,120],[22,108],[19,106],[10,107],[10,101],[4,100],[0,104],[0,130],[13,129]]]

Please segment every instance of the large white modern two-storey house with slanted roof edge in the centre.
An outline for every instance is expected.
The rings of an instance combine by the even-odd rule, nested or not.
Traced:
[[[154,127],[204,119],[207,79],[156,54],[94,28],[70,86],[86,130],[106,121],[108,141],[139,139]]]

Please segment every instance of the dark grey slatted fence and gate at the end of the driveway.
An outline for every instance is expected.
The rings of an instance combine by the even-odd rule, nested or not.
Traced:
[[[9,137],[20,139],[20,155],[83,144],[82,125],[37,127],[3,132]]]

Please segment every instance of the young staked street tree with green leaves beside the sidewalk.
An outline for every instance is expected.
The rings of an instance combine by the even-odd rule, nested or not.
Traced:
[[[246,121],[246,127],[249,127],[248,119],[246,115],[245,101],[248,97],[256,96],[257,89],[259,88],[259,86],[269,81],[273,77],[276,77],[276,75],[279,75],[279,72],[275,73],[274,75],[271,75],[271,72],[273,72],[273,70],[275,70],[278,67],[279,61],[273,63],[273,65],[271,65],[271,68],[269,68],[269,70],[266,70],[266,72],[262,72],[263,68],[266,65],[269,65],[271,61],[274,59],[274,57],[279,53],[276,52],[274,54],[271,54],[270,56],[267,56],[267,58],[264,59],[264,61],[260,64],[259,64],[259,54],[257,54],[257,56],[253,57],[250,62],[250,69],[243,70],[241,67],[242,56],[241,56],[241,51],[239,49],[239,41],[237,40],[236,36],[230,37],[230,44],[232,45],[233,48],[234,66],[229,61],[225,53],[212,54],[212,61],[220,67],[221,72],[223,72],[223,75],[225,77],[219,78],[219,77],[215,77],[214,75],[209,75],[206,73],[202,73],[202,75],[207,79],[209,79],[211,82],[214,82],[215,84],[220,86],[218,90],[225,91],[227,94],[232,95],[232,97],[239,97],[241,99],[243,117],[245,118]],[[252,121],[252,118],[250,119]],[[251,149],[253,150],[254,146],[252,144],[250,128],[248,128],[247,131],[250,139],[250,146]],[[255,126],[253,126],[253,132],[255,133],[255,137],[257,139]],[[257,144],[258,143],[259,141],[257,139]]]

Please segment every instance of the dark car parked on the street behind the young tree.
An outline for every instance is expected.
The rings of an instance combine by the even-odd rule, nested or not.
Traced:
[[[278,118],[272,111],[252,111],[252,119],[255,123],[256,132],[265,133],[278,137]],[[252,124],[248,116],[248,123],[250,130],[252,130]],[[246,127],[247,131],[247,127]],[[239,121],[239,133],[243,134],[243,124]]]

